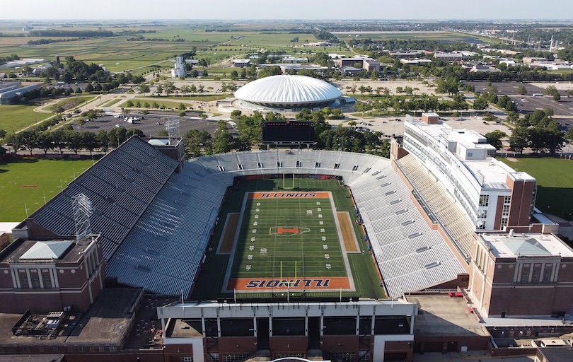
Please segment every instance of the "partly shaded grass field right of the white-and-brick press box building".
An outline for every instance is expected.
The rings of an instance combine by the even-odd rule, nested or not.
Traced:
[[[538,209],[573,220],[573,160],[549,157],[520,157],[516,162],[507,158],[500,160],[511,168],[536,177]]]

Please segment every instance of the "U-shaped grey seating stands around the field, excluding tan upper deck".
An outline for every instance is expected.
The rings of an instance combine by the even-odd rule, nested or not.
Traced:
[[[388,296],[436,286],[465,272],[438,232],[429,228],[386,158],[274,150],[202,156],[185,162],[180,173],[178,168],[177,160],[133,137],[18,229],[28,238],[74,235],[71,197],[86,194],[93,204],[91,229],[101,235],[107,276],[159,294],[178,295],[183,289],[188,296],[212,234],[224,222],[219,220],[221,205],[237,180],[334,178],[352,192],[366,232],[361,241],[367,241],[374,255]],[[408,247],[399,246],[403,244]],[[424,246],[431,248],[422,259],[416,250]],[[432,268],[424,267],[432,262]]]

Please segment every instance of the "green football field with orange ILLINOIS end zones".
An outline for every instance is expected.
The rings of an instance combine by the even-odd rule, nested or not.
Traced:
[[[347,233],[345,243],[349,223],[340,225],[330,192],[247,192],[238,218],[232,246],[219,244],[231,253],[226,291],[354,290],[346,254],[357,252],[357,240]]]

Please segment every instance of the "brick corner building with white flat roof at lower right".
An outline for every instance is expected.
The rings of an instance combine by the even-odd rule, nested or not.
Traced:
[[[492,317],[569,314],[573,250],[552,234],[480,234],[470,295]]]

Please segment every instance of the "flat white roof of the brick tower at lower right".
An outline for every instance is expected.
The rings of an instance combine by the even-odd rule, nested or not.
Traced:
[[[480,238],[495,257],[573,257],[573,250],[551,234],[489,234]]]

